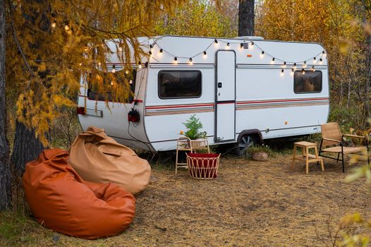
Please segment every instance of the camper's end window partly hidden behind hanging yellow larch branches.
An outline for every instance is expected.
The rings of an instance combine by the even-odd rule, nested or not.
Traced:
[[[126,73],[126,71],[116,71],[116,73],[105,73],[103,76],[103,87],[106,92],[102,92],[102,90],[99,90],[97,87],[94,86],[93,83],[88,78],[88,89],[87,89],[87,98],[89,100],[107,100],[113,101],[113,95],[110,91],[112,88],[112,76],[114,76],[116,83],[125,83],[125,80],[130,81],[130,93],[129,97],[125,102],[133,102],[133,95],[135,90],[135,78],[136,78],[136,71],[133,70],[131,73]]]

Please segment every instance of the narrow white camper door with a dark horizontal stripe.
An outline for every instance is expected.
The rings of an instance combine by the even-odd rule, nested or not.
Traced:
[[[217,52],[215,80],[215,142],[236,138],[236,54]]]

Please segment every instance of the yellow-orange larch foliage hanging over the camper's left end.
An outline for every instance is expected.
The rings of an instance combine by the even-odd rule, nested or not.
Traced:
[[[35,129],[44,145],[60,109],[75,104],[80,77],[107,71],[105,40],[118,39],[124,70],[130,56],[147,56],[136,37],[154,35],[159,15],[174,13],[185,0],[7,1],[6,84],[8,105]],[[129,47],[134,48],[130,54]],[[102,69],[97,64],[102,64]],[[112,80],[115,80],[113,77]],[[108,91],[102,80],[97,87]],[[115,101],[126,100],[129,82],[113,83]],[[94,84],[94,82],[93,82]]]

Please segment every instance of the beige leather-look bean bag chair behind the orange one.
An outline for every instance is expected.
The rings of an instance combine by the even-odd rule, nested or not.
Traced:
[[[150,181],[147,160],[94,126],[75,138],[68,162],[86,181],[115,183],[133,194],[142,191]]]

